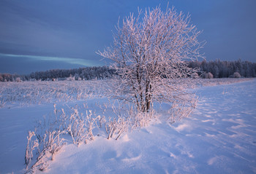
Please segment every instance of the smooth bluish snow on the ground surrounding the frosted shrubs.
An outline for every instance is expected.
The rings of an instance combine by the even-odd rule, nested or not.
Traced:
[[[101,83],[95,83],[99,90]],[[15,87],[18,94],[23,89],[9,87]],[[162,106],[157,108],[157,113],[162,115],[159,119],[139,131],[125,133],[118,141],[99,135],[79,147],[67,144],[43,173],[256,173],[255,87],[254,79],[197,88],[200,100],[192,117],[169,124],[165,122],[167,106]],[[25,172],[27,132],[34,129],[37,119],[53,113],[53,102],[57,108],[64,109],[86,103],[94,110],[106,100],[102,98],[104,92],[99,92],[102,95],[94,92],[88,99],[78,98],[78,94],[72,92],[75,96],[72,100],[55,100],[58,96],[53,95],[45,100],[39,95],[42,97],[38,100],[42,101],[33,104],[33,94],[25,95],[26,90],[22,90],[25,97],[20,95],[18,100],[10,97],[12,90],[7,95],[7,89],[3,89],[1,87],[0,98],[4,104],[0,108],[0,173]],[[67,91],[72,91],[70,89]],[[29,102],[22,99],[26,96]]]

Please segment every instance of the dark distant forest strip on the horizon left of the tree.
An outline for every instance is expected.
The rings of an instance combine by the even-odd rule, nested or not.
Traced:
[[[29,75],[0,74],[0,82],[110,79],[115,70],[108,66],[37,71]]]

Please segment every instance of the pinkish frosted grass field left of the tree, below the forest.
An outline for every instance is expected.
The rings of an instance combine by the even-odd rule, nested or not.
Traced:
[[[59,82],[2,82],[0,108],[41,103],[72,102],[105,96],[106,80]]]

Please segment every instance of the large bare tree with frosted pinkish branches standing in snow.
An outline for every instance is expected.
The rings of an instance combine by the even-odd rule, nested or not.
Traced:
[[[118,81],[113,95],[135,103],[138,111],[149,111],[154,100],[187,102],[187,80],[197,69],[189,60],[201,57],[204,42],[190,16],[174,8],[139,9],[116,25],[113,45],[97,52],[113,60]]]

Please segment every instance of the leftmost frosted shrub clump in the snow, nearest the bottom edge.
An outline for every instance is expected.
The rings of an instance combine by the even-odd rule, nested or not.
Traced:
[[[56,104],[53,105],[53,115],[48,119],[37,122],[34,131],[29,131],[28,143],[25,154],[26,173],[34,173],[37,169],[46,170],[48,160],[53,160],[55,154],[64,146],[65,139],[61,136],[67,134],[67,127],[64,122],[67,116],[64,111],[58,111]],[[32,162],[33,151],[37,150],[37,158]]]

